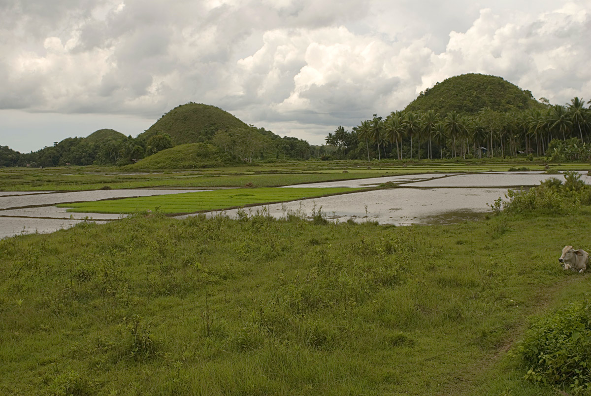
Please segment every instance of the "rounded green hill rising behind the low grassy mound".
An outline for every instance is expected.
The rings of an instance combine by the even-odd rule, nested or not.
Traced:
[[[175,145],[197,143],[210,141],[217,130],[227,128],[248,125],[219,107],[190,102],[164,114],[138,138],[147,140],[157,133],[167,133]]]

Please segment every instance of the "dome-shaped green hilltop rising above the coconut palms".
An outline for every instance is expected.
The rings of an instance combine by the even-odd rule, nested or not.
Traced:
[[[436,83],[433,88],[427,88],[404,110],[475,114],[486,107],[507,112],[544,108],[544,105],[536,101],[530,91],[523,91],[501,77],[470,73],[448,78]]]

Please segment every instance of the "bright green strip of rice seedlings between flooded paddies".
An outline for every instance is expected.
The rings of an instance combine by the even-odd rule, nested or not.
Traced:
[[[198,211],[222,210],[255,204],[294,201],[295,199],[324,197],[361,191],[359,188],[239,188],[228,190],[186,192],[184,194],[158,195],[110,199],[106,201],[60,204],[70,208],[69,212],[122,213],[138,211],[161,211],[162,213],[193,213]]]

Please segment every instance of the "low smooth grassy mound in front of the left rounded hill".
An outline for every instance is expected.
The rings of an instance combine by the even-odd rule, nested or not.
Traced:
[[[191,169],[224,166],[219,156],[219,150],[212,144],[187,143],[152,154],[137,163],[125,166],[124,169]]]

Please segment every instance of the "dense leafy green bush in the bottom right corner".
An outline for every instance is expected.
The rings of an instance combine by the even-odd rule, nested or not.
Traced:
[[[525,378],[570,389],[574,395],[591,392],[591,309],[589,300],[535,320],[518,346]]]

